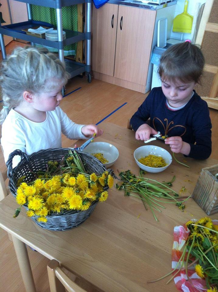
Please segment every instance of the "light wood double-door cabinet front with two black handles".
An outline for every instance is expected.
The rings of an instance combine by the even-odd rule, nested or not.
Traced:
[[[145,93],[156,11],[106,3],[92,10],[94,78]]]

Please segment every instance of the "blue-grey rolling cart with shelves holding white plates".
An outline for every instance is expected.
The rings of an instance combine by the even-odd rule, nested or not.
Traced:
[[[5,43],[3,35],[12,36],[21,40],[26,40],[34,45],[34,43],[53,47],[58,49],[58,55],[62,62],[66,63],[67,71],[70,73],[71,78],[81,74],[87,73],[88,82],[91,82],[91,1],[92,0],[16,0],[26,3],[28,21],[15,23],[10,25],[1,26],[0,24],[0,46],[2,50],[2,58],[6,59]],[[80,33],[78,31],[65,30],[66,39],[63,40],[63,27],[62,27],[62,7],[70,6],[74,4],[86,4],[86,26],[85,32]],[[56,9],[57,15],[57,33],[58,41],[46,40],[37,36],[31,36],[26,34],[22,29],[32,28],[37,24],[49,26],[49,23],[43,23],[40,21],[32,20],[31,4],[40,5],[44,7],[50,7]],[[50,27],[53,27],[50,25]],[[86,64],[75,62],[72,60],[64,59],[64,46],[76,43],[81,40],[86,40]]]

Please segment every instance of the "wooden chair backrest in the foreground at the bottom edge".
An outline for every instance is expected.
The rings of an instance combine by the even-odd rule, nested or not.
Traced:
[[[47,264],[48,280],[51,292],[87,292],[72,281],[61,269],[59,262],[52,259]]]

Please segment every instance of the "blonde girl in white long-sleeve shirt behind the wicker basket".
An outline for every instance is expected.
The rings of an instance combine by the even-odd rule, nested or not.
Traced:
[[[5,162],[16,149],[30,155],[60,148],[61,133],[75,140],[103,133],[95,125],[72,122],[59,107],[68,78],[64,63],[45,48],[17,47],[2,62],[0,123]],[[14,157],[13,167],[18,162],[19,157]]]

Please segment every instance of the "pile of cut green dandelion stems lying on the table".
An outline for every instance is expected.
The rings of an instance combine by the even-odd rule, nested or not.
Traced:
[[[140,198],[144,204],[145,209],[148,207],[154,215],[156,221],[157,217],[154,213],[155,210],[161,212],[160,208],[166,209],[162,206],[162,203],[175,204],[179,209],[183,210],[185,205],[183,204],[190,196],[180,197],[173,189],[172,182],[175,180],[175,176],[169,182],[158,182],[154,179],[144,178],[144,171],[140,170],[140,176],[135,176],[130,170],[120,172],[119,176],[122,183],[116,184],[118,190],[124,190],[125,196],[134,196]]]

